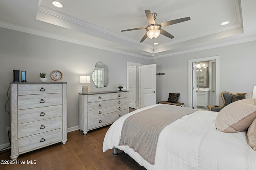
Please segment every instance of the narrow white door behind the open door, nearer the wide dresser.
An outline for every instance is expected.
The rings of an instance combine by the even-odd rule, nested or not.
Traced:
[[[136,66],[129,66],[129,107],[136,109],[137,101],[137,71]]]

